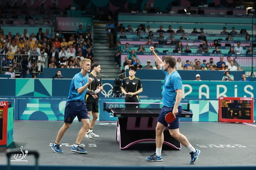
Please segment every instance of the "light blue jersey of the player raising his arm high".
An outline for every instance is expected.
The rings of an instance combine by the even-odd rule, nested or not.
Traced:
[[[165,73],[165,82],[163,84],[162,91],[163,105],[167,107],[174,107],[177,95],[175,90],[182,89],[182,80],[177,71],[174,71],[170,75],[167,71],[163,71],[163,73]],[[181,103],[179,106],[181,106]]]

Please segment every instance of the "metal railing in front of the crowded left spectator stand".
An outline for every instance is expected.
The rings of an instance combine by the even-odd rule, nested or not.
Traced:
[[[22,64],[25,64],[25,60],[28,60],[28,65],[23,66],[27,67],[25,70],[27,74],[32,71],[43,72],[43,68],[48,67],[48,55],[40,54],[1,54],[1,65],[0,72],[4,74],[8,72],[10,67],[13,67],[13,72],[22,72]]]

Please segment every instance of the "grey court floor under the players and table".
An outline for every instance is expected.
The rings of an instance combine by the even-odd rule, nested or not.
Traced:
[[[23,146],[23,151],[38,150],[40,165],[249,166],[255,165],[256,160],[256,127],[242,123],[181,122],[181,133],[191,145],[201,150],[194,165],[189,164],[190,155],[183,146],[181,150],[163,146],[163,162],[145,160],[145,157],[155,152],[155,143],[139,143],[120,150],[115,141],[115,123],[111,122],[97,122],[94,132],[100,137],[82,140],[88,151],[86,155],[73,153],[71,147],[66,146],[75,142],[81,128],[81,122],[73,122],[61,140],[61,143],[66,143],[61,147],[64,153],[57,154],[49,144],[55,141],[62,124],[63,122],[58,121],[15,121],[12,147]],[[96,147],[89,147],[95,146],[93,144]],[[0,148],[0,164],[6,164],[5,150],[6,148]],[[33,156],[26,159],[28,162],[11,164],[34,163]]]

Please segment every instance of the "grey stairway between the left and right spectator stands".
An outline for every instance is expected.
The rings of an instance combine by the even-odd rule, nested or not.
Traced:
[[[120,67],[116,67],[114,55],[116,49],[109,49],[108,36],[105,31],[106,23],[94,22],[94,56],[95,62],[100,63],[103,75],[118,75],[121,73]],[[120,76],[119,76],[120,77]],[[115,79],[110,77],[103,77],[102,79]]]

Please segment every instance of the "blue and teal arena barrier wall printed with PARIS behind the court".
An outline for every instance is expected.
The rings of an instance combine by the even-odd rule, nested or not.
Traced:
[[[1,79],[0,100],[13,104],[15,120],[63,120],[70,82],[71,79]],[[161,102],[163,80],[141,82],[140,95],[147,98],[140,98],[140,102]],[[102,83],[98,120],[115,121],[115,117],[103,111],[103,102],[125,102],[124,98],[111,98],[114,80]],[[183,81],[182,103],[190,104],[193,118],[180,121],[218,121],[218,97],[254,97],[255,87],[255,81]]]

